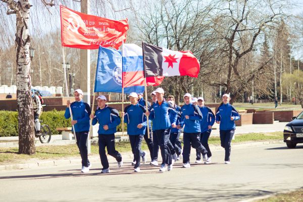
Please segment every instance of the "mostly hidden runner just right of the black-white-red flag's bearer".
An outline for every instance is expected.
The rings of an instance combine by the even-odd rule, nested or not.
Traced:
[[[177,112],[179,112],[178,117],[177,117],[177,122],[176,122],[176,125],[179,125],[180,121],[181,121],[181,114],[180,114],[181,107],[175,104],[175,98],[173,95],[169,95],[167,99],[168,99],[168,102],[170,102],[174,106],[175,110]],[[182,156],[181,155],[182,154],[182,145],[181,145],[181,141],[179,139],[180,135],[181,135],[181,129],[171,127],[170,142],[173,145],[175,152],[177,154],[176,160],[179,160],[180,156]]]

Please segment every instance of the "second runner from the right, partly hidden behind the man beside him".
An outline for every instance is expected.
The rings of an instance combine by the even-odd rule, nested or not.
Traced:
[[[203,118],[200,120],[200,142],[207,150],[207,160],[204,162],[205,164],[211,163],[212,152],[210,150],[210,146],[208,145],[208,139],[210,138],[212,127],[215,123],[215,114],[213,111],[204,105],[204,98],[198,97],[198,107],[203,115]],[[196,150],[196,161],[195,163],[201,163],[201,153]]]

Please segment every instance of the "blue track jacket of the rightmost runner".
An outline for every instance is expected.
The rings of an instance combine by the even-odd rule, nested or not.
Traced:
[[[230,119],[231,116],[234,117],[233,120]],[[231,104],[222,104],[218,107],[216,112],[216,121],[220,122],[220,130],[235,130],[236,125],[234,121],[239,119],[239,113]]]

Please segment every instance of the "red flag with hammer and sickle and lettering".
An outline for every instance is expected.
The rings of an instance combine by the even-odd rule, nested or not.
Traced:
[[[118,49],[126,40],[128,20],[110,20],[87,15],[60,6],[62,46],[98,49],[99,46]]]

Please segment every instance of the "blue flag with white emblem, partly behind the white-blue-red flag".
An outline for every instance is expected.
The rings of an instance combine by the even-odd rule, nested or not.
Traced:
[[[142,93],[144,86],[124,88],[124,93]],[[120,51],[99,47],[94,92],[122,93],[122,55]]]

